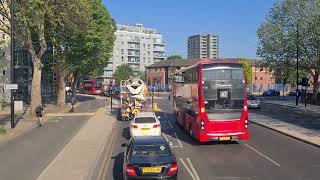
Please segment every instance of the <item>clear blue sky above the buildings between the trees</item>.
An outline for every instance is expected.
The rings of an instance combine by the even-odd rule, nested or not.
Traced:
[[[187,56],[187,38],[220,37],[220,57],[256,58],[257,28],[274,0],[103,0],[120,24],[141,23],[159,30],[166,54]]]

